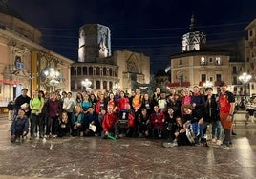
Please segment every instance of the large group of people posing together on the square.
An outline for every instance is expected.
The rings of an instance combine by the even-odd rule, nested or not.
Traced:
[[[212,88],[198,86],[193,91],[183,89],[179,94],[171,88],[168,94],[156,88],[153,94],[140,89],[126,96],[98,91],[59,91],[51,95],[42,90],[28,89],[14,100],[11,123],[11,142],[24,138],[56,138],[63,136],[146,137],[166,139],[177,145],[207,146],[204,138],[207,126],[212,124],[212,142],[230,146],[234,95],[222,82],[220,94]],[[222,131],[224,129],[224,140]]]

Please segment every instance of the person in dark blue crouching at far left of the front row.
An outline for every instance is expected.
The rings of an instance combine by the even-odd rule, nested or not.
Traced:
[[[18,115],[11,123],[11,142],[15,142],[16,139],[20,140],[20,137],[25,137],[29,132],[29,119],[25,115],[24,109],[18,110]]]

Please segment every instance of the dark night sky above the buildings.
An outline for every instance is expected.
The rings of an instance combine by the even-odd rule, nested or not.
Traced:
[[[169,66],[181,52],[192,14],[207,44],[229,44],[245,37],[256,18],[255,0],[9,0],[23,20],[41,30],[42,46],[77,61],[78,30],[101,24],[111,30],[114,50],[151,58],[151,72]]]

